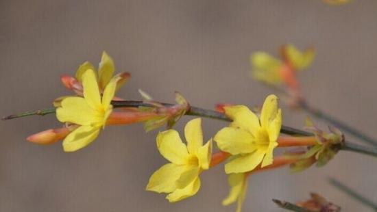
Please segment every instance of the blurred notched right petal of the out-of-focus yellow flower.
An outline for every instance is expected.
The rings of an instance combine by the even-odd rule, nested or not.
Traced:
[[[284,50],[284,53],[287,55],[287,59],[296,70],[302,70],[310,66],[315,57],[314,49],[308,49],[301,52],[300,50],[296,49],[293,44],[287,44]]]

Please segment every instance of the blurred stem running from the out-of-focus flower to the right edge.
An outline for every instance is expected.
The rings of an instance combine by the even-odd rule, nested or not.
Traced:
[[[302,109],[307,111],[312,116],[315,116],[319,119],[330,122],[335,127],[341,129],[341,131],[350,133],[350,135],[360,138],[363,142],[367,144],[372,144],[373,146],[377,146],[376,140],[374,140],[372,137],[369,137],[368,135],[365,135],[361,131],[358,131],[357,129],[350,127],[350,125],[345,124],[345,122],[342,122],[341,120],[338,120],[337,118],[330,116],[329,114],[326,114],[324,111],[311,107],[310,105],[308,105],[308,103],[306,103],[306,101],[300,101],[299,104]]]

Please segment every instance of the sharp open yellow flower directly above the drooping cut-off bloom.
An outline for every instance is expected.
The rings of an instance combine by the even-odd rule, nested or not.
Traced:
[[[262,167],[273,161],[273,149],[282,124],[278,97],[267,96],[260,119],[244,105],[224,107],[233,122],[214,137],[217,146],[234,155],[225,165],[227,174],[249,172],[262,162]]]

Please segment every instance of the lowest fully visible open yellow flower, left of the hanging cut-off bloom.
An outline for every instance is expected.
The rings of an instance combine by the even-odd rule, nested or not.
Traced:
[[[212,141],[203,145],[202,120],[195,118],[184,127],[187,146],[175,130],[158,133],[156,142],[161,155],[171,163],[162,165],[147,185],[148,191],[170,193],[169,202],[177,202],[197,193],[199,174],[208,170],[212,154]]]

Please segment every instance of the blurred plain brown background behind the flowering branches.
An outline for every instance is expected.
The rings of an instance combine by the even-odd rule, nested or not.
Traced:
[[[119,96],[139,99],[138,88],[173,102],[175,90],[192,105],[263,103],[272,91],[252,80],[253,51],[278,54],[280,44],[313,45],[313,66],[300,73],[308,100],[377,137],[377,2],[330,6],[320,0],[232,1],[0,1],[0,114],[50,107],[70,94],[60,75],[106,50],[132,79]],[[302,127],[306,114],[282,104],[284,124]],[[184,118],[176,125],[182,131]],[[226,123],[204,120],[208,140]],[[322,124],[325,126],[324,124]],[[223,166],[203,172],[197,195],[170,204],[145,191],[166,163],[157,131],[142,124],[106,127],[75,153],[60,143],[38,146],[25,137],[61,124],[53,115],[0,122],[0,211],[234,211]],[[162,130],[162,129],[160,129]],[[352,137],[348,137],[354,140]],[[377,163],[339,153],[324,168],[290,174],[287,168],[250,177],[243,211],[282,211],[271,198],[305,200],[310,191],[341,205],[369,211],[330,186],[328,176],[377,201]]]

